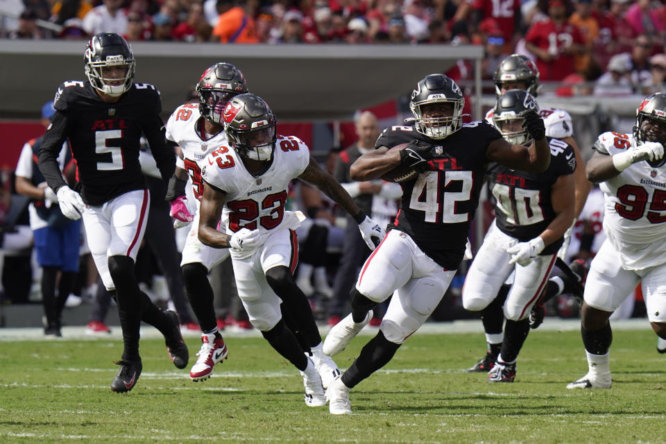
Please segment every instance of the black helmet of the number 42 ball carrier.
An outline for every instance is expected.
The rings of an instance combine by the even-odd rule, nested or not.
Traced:
[[[423,117],[421,107],[431,103],[452,103],[451,117]],[[411,92],[409,109],[416,119],[416,130],[431,139],[444,139],[463,125],[465,99],[460,87],[444,74],[429,74],[416,83]]]

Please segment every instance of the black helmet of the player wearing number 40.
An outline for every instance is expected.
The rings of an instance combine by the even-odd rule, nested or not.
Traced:
[[[522,89],[509,89],[497,97],[493,125],[510,144],[531,144],[531,135],[522,127],[525,114],[531,111],[539,112],[534,97]]]

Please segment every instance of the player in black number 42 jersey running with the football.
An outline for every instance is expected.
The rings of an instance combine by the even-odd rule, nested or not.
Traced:
[[[488,123],[463,124],[464,103],[460,88],[447,76],[422,78],[411,94],[414,120],[386,128],[377,149],[351,167],[354,180],[380,178],[401,164],[420,173],[402,182],[395,226],[361,268],[351,293],[352,313],[326,337],[324,352],[341,352],[366,325],[373,307],[393,294],[377,336],[327,391],[331,413],[349,413],[350,388],[388,363],[437,307],[463,259],[486,162],[534,172],[549,166],[545,128],[536,112],[524,117],[535,141],[527,148],[509,144]],[[389,151],[404,142],[410,144]]]

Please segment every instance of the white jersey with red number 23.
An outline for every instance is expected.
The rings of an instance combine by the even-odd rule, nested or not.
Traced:
[[[278,135],[271,166],[257,177],[233,148],[221,146],[210,153],[201,176],[206,185],[226,195],[222,220],[228,221],[227,234],[241,228],[263,232],[280,228],[289,182],[305,171],[309,161],[309,148],[295,136]]]

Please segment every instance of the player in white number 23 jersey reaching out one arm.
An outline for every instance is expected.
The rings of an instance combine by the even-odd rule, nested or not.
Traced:
[[[250,322],[300,370],[305,403],[325,405],[324,389],[340,370],[323,354],[309,302],[293,278],[298,262],[294,230],[303,216],[284,210],[289,182],[300,178],[335,200],[359,223],[370,248],[383,239],[384,230],[319,167],[298,137],[276,135],[275,114],[263,99],[254,94],[234,97],[223,121],[229,143],[210,153],[201,171],[205,187],[199,240],[230,251],[238,295]],[[221,216],[228,221],[225,228],[219,226]]]

